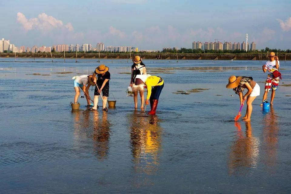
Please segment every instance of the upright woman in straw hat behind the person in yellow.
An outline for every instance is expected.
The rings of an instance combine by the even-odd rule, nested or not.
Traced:
[[[143,108],[143,104],[145,103],[145,98],[143,96],[144,85],[135,85],[134,80],[136,75],[145,75],[146,74],[146,65],[143,64],[142,58],[140,56],[135,56],[132,59],[133,65],[131,66],[131,80],[129,86],[132,86],[133,91],[133,100],[134,100],[134,108],[137,108],[137,94],[139,92],[141,99],[141,106]]]

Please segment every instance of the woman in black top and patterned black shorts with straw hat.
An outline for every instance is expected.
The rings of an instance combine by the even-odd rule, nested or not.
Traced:
[[[93,84],[95,84],[95,92],[94,92],[94,106],[90,110],[97,110],[99,107],[98,104],[98,98],[100,95],[100,92],[102,91],[101,96],[102,99],[102,109],[104,111],[108,111],[106,108],[107,103],[107,97],[109,96],[109,79],[110,79],[110,73],[109,73],[109,67],[106,67],[105,65],[101,64],[99,67],[97,67],[92,75],[92,78],[89,78],[89,81],[91,82],[93,79]],[[96,78],[97,75],[97,78]],[[99,92],[100,91],[100,92]]]

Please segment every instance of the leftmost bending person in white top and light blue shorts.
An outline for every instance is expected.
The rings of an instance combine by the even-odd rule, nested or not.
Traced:
[[[80,88],[83,90],[86,100],[87,100],[87,106],[93,106],[90,103],[90,95],[89,95],[89,88],[91,84],[89,83],[88,75],[81,75],[81,76],[74,76],[72,77],[72,80],[74,80],[74,89],[75,89],[75,103],[77,103],[79,95],[80,95]]]

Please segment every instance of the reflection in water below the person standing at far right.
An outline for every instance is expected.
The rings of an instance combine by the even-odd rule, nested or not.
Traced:
[[[276,163],[277,157],[277,143],[278,143],[278,116],[276,115],[273,107],[271,106],[270,112],[266,114],[263,122],[263,146],[265,147],[266,155],[263,162],[266,165],[273,166]]]

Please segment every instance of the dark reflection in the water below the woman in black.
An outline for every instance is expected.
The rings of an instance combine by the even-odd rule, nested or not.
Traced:
[[[94,153],[98,159],[106,158],[109,149],[110,123],[107,120],[107,112],[103,111],[102,118],[99,120],[99,113],[94,111],[93,134]]]

